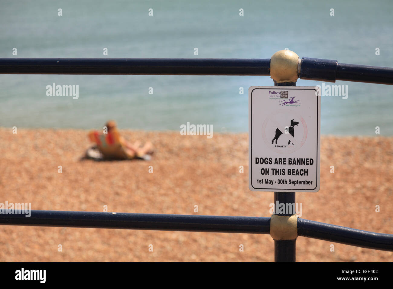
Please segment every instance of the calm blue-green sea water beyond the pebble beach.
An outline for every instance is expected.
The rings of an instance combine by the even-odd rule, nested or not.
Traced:
[[[392,15],[389,0],[2,1],[0,57],[270,58],[288,48],[300,57],[393,67]],[[78,98],[47,95],[53,83],[78,86]],[[215,132],[247,132],[253,85],[271,86],[273,80],[0,75],[0,126],[90,129],[114,119],[129,129],[180,130],[189,122],[212,125]],[[322,96],[322,134],[393,135],[392,86],[324,85],[343,85],[347,98]]]

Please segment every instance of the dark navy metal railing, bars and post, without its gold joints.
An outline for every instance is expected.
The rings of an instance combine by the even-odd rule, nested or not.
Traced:
[[[270,59],[1,58],[0,74],[270,75]],[[328,82],[344,80],[393,85],[393,68],[303,57],[299,61],[298,77]],[[296,82],[276,85],[295,86]],[[295,203],[295,193],[275,192],[274,198],[279,203]],[[25,214],[0,214],[0,224],[270,234],[270,217],[32,210],[30,217]],[[367,232],[300,218],[297,230],[298,236],[393,251],[393,234]],[[275,240],[275,261],[295,261],[295,258],[296,239]]]

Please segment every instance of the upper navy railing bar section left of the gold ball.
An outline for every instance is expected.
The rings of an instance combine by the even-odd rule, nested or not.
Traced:
[[[270,75],[270,59],[0,58],[0,74]]]

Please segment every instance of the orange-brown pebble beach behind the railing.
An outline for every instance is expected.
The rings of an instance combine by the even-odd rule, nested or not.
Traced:
[[[31,203],[32,210],[271,215],[273,192],[248,189],[247,133],[120,132],[152,142],[152,159],[81,160],[87,130],[0,128],[0,202]],[[321,136],[321,189],[296,193],[301,218],[393,234],[392,162],[393,137]],[[0,261],[274,261],[265,234],[6,225],[0,234]],[[296,248],[297,261],[393,260],[393,252],[305,237]]]

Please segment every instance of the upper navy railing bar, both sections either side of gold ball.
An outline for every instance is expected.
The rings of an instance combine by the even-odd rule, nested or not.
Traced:
[[[270,75],[270,59],[0,58],[0,74]],[[393,84],[393,68],[303,57],[301,79]]]

